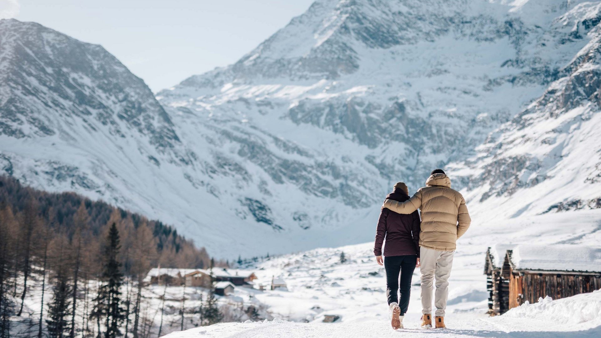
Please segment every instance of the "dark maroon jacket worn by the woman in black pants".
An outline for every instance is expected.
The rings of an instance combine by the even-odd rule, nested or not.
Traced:
[[[403,202],[408,200],[409,196],[401,189],[394,189],[386,198]],[[377,221],[374,254],[382,255],[382,243],[386,238],[385,257],[410,254],[419,257],[419,223],[417,210],[409,215],[401,215],[388,208],[382,209],[380,219]]]

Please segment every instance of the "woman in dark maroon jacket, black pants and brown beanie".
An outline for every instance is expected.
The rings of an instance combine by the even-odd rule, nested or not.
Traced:
[[[398,182],[386,199],[400,202],[408,200],[407,185]],[[382,244],[385,238],[385,258],[382,258]],[[418,242],[419,214],[417,210],[409,215],[401,215],[386,208],[382,209],[377,223],[374,254],[377,263],[386,269],[386,297],[388,297],[388,306],[392,315],[391,325],[394,330],[403,328],[403,316],[409,307],[411,277],[413,277],[413,270],[419,266]],[[400,301],[397,295],[399,290]]]

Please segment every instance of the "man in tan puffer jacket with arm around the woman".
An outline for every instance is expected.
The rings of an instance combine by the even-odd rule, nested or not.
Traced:
[[[467,230],[471,218],[463,196],[451,189],[451,180],[442,169],[432,171],[426,186],[409,200],[386,199],[382,206],[398,214],[421,210],[419,256],[421,258],[421,326],[432,327],[432,282],[436,278],[435,324],[444,328],[448,278],[453,266],[456,242]]]

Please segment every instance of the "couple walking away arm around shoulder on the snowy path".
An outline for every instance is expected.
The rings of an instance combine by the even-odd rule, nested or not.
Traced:
[[[403,328],[411,277],[417,267],[421,271],[421,326],[432,327],[432,284],[436,280],[435,326],[445,327],[448,278],[455,245],[468,230],[470,222],[463,196],[451,189],[451,180],[442,169],[432,171],[426,186],[410,198],[405,183],[394,185],[394,191],[382,205],[374,245],[377,263],[386,269],[386,297],[392,328]]]

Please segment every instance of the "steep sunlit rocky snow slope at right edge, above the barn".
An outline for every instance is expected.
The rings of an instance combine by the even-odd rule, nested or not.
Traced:
[[[570,36],[586,39],[587,45],[559,70],[560,77],[542,97],[492,133],[478,147],[478,156],[457,165],[482,207],[519,200],[520,215],[598,207],[599,8],[599,3],[578,5],[558,19],[586,13]],[[496,198],[487,201],[490,197]]]

